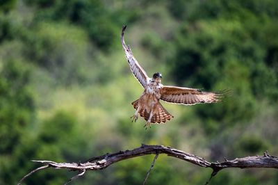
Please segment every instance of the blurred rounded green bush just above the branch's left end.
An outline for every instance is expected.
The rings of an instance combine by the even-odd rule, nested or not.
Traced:
[[[38,134],[38,140],[44,143],[41,147],[39,159],[43,159],[45,156],[50,156],[47,152],[50,152],[49,148],[57,151],[56,156],[58,159],[68,161],[80,161],[83,160],[86,146],[85,138],[80,136],[80,129],[77,126],[78,122],[74,114],[67,113],[65,111],[58,111],[52,118],[46,120],[42,125],[40,134]]]

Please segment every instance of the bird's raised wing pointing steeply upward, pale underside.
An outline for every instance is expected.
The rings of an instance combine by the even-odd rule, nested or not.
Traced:
[[[143,68],[139,65],[138,61],[136,61],[136,58],[134,58],[133,54],[131,53],[131,49],[126,46],[126,43],[124,42],[124,31],[126,29],[126,26],[122,27],[122,47],[124,49],[124,53],[126,54],[126,59],[129,62],[129,66],[131,68],[131,71],[133,72],[134,77],[138,79],[138,81],[141,83],[141,85],[145,88],[147,86],[147,73]]]

